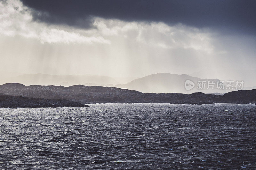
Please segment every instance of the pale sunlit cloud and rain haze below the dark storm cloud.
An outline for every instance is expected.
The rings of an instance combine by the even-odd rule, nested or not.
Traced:
[[[35,13],[40,11],[19,0],[0,1],[2,75],[141,77],[168,72],[195,73],[193,76],[202,78],[243,78],[256,84],[255,36],[222,34],[184,23],[108,17],[91,17],[92,27],[84,29],[35,20]]]

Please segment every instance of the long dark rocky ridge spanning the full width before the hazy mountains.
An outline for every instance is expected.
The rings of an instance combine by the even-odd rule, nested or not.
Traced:
[[[196,92],[182,93],[142,93],[116,87],[84,86],[25,86],[18,83],[0,85],[4,95],[66,99],[81,103],[172,103],[172,104],[212,104],[212,103],[256,103],[256,89],[229,92],[223,96]]]

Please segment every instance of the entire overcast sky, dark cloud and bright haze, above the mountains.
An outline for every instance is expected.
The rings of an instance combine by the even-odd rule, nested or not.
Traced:
[[[244,0],[0,0],[0,73],[165,72],[256,85],[255,9]]]

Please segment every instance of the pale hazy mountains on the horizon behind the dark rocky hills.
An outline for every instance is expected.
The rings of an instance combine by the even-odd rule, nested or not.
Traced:
[[[127,82],[130,78],[118,78],[118,80]],[[185,82],[187,80],[192,81],[195,86],[193,89],[186,90]],[[197,82],[206,82],[205,88],[197,88]],[[49,74],[25,74],[16,77],[10,77],[7,79],[0,79],[0,82],[4,83],[21,83],[25,85],[87,85],[87,86],[105,86],[105,87],[117,87],[126,88],[129,90],[136,90],[144,93],[185,93],[191,94],[194,92],[204,92],[204,93],[227,93],[231,92],[232,89],[228,90],[218,89],[217,82],[219,79],[202,79],[198,77],[192,77],[187,74],[170,74],[170,73],[157,73],[151,74],[142,78],[136,78],[126,84],[120,84],[115,78],[108,76],[97,76],[97,75],[49,75]],[[208,82],[214,82],[213,89],[208,88]],[[255,89],[253,87],[244,87],[243,90]]]

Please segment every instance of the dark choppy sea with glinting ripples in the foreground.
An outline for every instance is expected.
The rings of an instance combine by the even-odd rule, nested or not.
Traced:
[[[0,109],[0,169],[256,169],[256,105]]]

